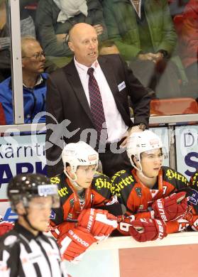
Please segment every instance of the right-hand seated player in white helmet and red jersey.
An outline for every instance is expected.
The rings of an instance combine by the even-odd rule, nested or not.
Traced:
[[[185,214],[187,199],[185,192],[172,192],[187,187],[187,179],[163,166],[163,143],[152,131],[131,134],[126,151],[133,169],[121,170],[111,179],[114,194],[132,215],[121,221],[119,231],[137,241],[177,232],[172,219]]]

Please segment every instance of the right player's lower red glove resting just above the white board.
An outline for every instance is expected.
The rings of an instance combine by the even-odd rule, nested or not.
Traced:
[[[133,220],[132,226],[129,227],[129,232],[136,241],[140,242],[163,239],[167,236],[165,224],[160,219],[141,218]]]

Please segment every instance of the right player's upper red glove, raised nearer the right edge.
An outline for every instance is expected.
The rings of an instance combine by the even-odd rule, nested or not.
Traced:
[[[163,219],[164,222],[182,216],[187,211],[186,192],[173,193],[165,198],[156,200],[152,207],[155,218]]]

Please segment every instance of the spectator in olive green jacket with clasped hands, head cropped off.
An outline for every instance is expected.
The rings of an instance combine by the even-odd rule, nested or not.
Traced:
[[[159,98],[180,97],[178,79],[186,81],[180,58],[170,61],[177,36],[166,0],[106,0],[104,18],[109,39],[114,40],[134,75]]]

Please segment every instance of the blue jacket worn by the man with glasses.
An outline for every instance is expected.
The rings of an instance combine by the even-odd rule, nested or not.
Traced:
[[[23,86],[24,122],[32,123],[38,112],[45,112],[46,79],[47,73],[41,74],[43,82],[33,89]],[[11,90],[11,77],[0,83],[0,102],[4,108],[6,124],[13,124],[13,96]],[[39,123],[45,123],[45,116],[40,117]]]

